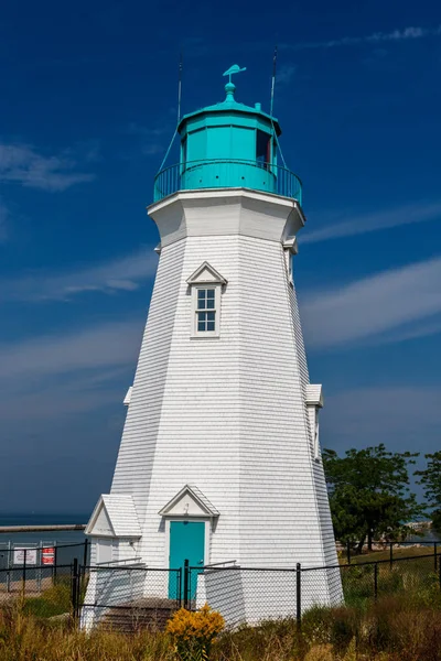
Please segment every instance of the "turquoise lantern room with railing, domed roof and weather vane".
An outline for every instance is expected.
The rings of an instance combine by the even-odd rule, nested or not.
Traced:
[[[278,165],[276,118],[260,104],[247,106],[235,99],[233,65],[225,72],[225,100],[185,115],[178,126],[180,163],[161,170],[155,177],[155,202],[180,189],[251,188],[300,201],[300,180]]]

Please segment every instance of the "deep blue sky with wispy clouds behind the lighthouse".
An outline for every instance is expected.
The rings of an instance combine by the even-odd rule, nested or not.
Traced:
[[[0,23],[0,503],[106,491],[158,258],[146,216],[183,110],[275,113],[302,178],[294,272],[322,444],[430,452],[441,429],[438,3],[18,0]],[[173,159],[172,159],[173,161]]]

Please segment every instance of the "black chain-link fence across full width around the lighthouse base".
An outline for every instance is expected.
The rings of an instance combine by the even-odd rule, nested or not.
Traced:
[[[151,568],[139,560],[119,565],[21,565],[0,568],[0,611],[21,600],[39,617],[73,617],[83,629],[127,632],[162,629],[181,606],[208,604],[228,627],[289,618],[316,605],[364,606],[383,596],[441,593],[441,553],[389,556],[335,566],[243,567],[237,564]],[[84,555],[83,555],[84,557]],[[19,560],[19,556],[15,557]],[[0,613],[1,615],[1,613]]]

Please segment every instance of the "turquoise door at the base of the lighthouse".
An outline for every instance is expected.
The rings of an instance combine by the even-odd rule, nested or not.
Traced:
[[[184,587],[184,562],[189,561],[191,567],[204,565],[205,523],[203,521],[171,521],[170,523],[170,568],[182,567],[181,598]],[[190,598],[196,593],[197,572],[191,573]],[[178,577],[172,572],[169,579],[169,598],[176,599]]]

